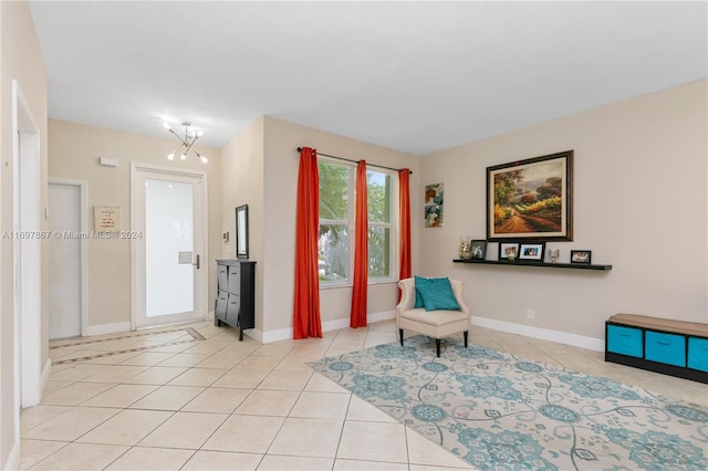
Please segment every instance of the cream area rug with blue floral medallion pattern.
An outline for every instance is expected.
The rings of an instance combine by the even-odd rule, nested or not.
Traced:
[[[418,335],[309,364],[482,470],[707,470],[708,408]]]

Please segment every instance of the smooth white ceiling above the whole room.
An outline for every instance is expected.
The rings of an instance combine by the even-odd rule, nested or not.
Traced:
[[[50,117],[215,147],[269,115],[425,155],[708,76],[706,1],[30,9]]]

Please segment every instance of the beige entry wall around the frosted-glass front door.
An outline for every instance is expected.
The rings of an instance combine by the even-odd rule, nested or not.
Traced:
[[[207,311],[214,311],[216,296],[215,254],[220,251],[220,151],[196,146],[209,157],[201,164],[191,156],[185,160],[169,161],[165,156],[173,151],[177,139],[140,136],[50,119],[49,138],[50,177],[84,179],[87,181],[87,226],[93,228],[94,206],[118,206],[121,226],[131,224],[131,163],[152,164],[162,167],[187,168],[207,172],[209,205],[209,253],[205,265],[209,271]],[[117,159],[117,167],[103,167],[98,158]],[[50,208],[51,214],[51,208]],[[88,259],[88,327],[131,322],[131,241],[128,239],[90,239]]]

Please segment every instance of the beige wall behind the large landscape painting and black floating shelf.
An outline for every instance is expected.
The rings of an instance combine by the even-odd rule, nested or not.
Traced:
[[[420,273],[467,281],[475,316],[595,339],[620,312],[708,322],[707,84],[426,156],[420,185],[445,184],[445,226],[419,229]],[[593,262],[612,271],[451,263],[460,234],[486,237],[488,166],[568,149],[574,150],[574,240],[546,247],[560,249],[562,261],[571,249],[592,250]]]

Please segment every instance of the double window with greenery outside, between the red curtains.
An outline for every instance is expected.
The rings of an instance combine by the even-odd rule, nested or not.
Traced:
[[[320,158],[319,272],[324,284],[346,284],[354,261],[356,167]],[[366,171],[368,279],[392,279],[392,174]]]

